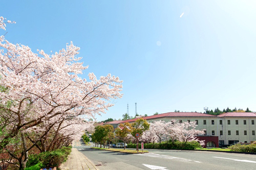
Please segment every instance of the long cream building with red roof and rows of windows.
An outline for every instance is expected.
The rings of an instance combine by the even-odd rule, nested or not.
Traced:
[[[146,119],[147,122],[158,120],[169,122],[171,119],[177,119],[180,122],[197,122],[197,129],[206,130],[205,136],[198,136],[198,138],[205,140],[207,147],[219,147],[219,144],[224,145],[237,142],[248,143],[256,140],[256,113],[253,112],[228,112],[220,115],[197,112],[169,112],[142,118]],[[137,119],[116,120],[108,124],[117,127],[125,122],[134,123]]]

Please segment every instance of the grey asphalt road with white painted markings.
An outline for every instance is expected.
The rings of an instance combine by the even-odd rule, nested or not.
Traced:
[[[148,150],[148,154],[125,154],[77,147],[101,170],[137,169],[256,169],[256,155],[205,151]]]

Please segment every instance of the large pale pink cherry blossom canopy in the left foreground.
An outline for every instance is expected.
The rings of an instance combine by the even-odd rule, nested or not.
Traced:
[[[3,19],[0,27],[5,28]],[[38,127],[44,122],[83,115],[91,118],[113,106],[111,99],[121,98],[122,81],[108,74],[89,80],[78,74],[87,69],[77,58],[80,48],[72,42],[66,49],[48,55],[33,53],[28,46],[0,38],[0,150],[19,132]],[[39,129],[39,128],[35,128]]]

